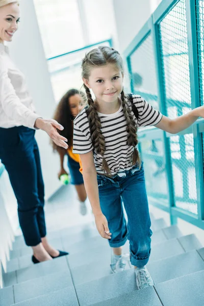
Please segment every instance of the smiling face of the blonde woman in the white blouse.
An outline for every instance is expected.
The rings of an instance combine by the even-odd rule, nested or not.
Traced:
[[[0,8],[0,42],[12,41],[18,30],[20,11],[17,3],[11,3]]]

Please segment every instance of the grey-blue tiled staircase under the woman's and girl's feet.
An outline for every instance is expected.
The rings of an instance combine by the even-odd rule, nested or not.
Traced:
[[[0,305],[18,306],[203,306],[204,248],[194,234],[151,215],[152,245],[147,268],[156,285],[138,291],[134,269],[111,274],[110,247],[93,222],[49,233],[66,257],[33,265],[31,249],[16,237]],[[129,252],[129,244],[124,246]]]

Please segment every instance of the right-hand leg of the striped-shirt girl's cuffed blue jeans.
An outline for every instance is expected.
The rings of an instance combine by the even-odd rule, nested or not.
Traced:
[[[143,167],[134,174],[126,176],[122,190],[128,219],[131,263],[141,268],[149,260],[152,235]]]

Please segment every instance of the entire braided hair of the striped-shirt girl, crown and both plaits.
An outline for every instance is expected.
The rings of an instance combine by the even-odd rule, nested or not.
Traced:
[[[82,78],[88,80],[91,73],[91,68],[105,66],[107,64],[114,64],[117,68],[119,68],[122,73],[124,71],[122,58],[115,49],[107,46],[99,46],[98,48],[91,50],[85,55],[82,61]],[[93,101],[91,92],[85,84],[84,88],[86,90],[87,103],[89,106],[87,109],[87,115],[91,132],[91,141],[93,143],[96,153],[103,158],[101,170],[103,170],[107,174],[110,174],[111,171],[104,156],[106,152],[106,143],[105,137],[101,132],[100,117],[97,113],[97,101]],[[123,89],[121,91],[121,101],[123,113],[127,123],[126,144],[134,147],[132,155],[132,164],[135,165],[136,163],[138,163],[140,166],[139,153],[136,148],[136,145],[138,144],[137,126],[132,115],[131,103],[129,101],[129,98],[125,96]]]

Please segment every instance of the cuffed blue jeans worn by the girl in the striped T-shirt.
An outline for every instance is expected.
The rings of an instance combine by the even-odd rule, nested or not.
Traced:
[[[120,247],[129,239],[132,265],[138,268],[145,266],[149,260],[152,232],[143,164],[140,169],[134,166],[111,178],[97,174],[97,181],[100,207],[112,233],[110,246]]]

